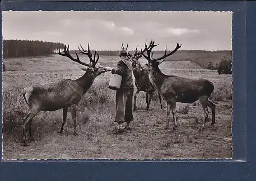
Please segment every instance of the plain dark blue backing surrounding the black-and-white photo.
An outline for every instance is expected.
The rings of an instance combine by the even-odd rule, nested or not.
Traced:
[[[256,151],[254,143],[256,137],[254,118],[256,115],[253,106],[255,102],[253,91],[255,90],[255,62],[253,60],[256,57],[254,50],[256,47],[255,7],[256,2],[245,1],[3,2],[3,11],[69,11],[71,9],[76,11],[233,11],[232,130],[234,159],[233,161],[167,162],[123,162],[120,160],[104,162],[99,160],[80,160],[80,162],[62,160],[55,162],[45,160],[44,162],[17,163],[2,161],[0,180],[256,180],[254,154]]]

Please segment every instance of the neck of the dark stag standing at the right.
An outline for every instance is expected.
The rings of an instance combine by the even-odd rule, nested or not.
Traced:
[[[165,80],[165,77],[165,74],[161,72],[158,65],[151,66],[150,70],[148,71],[148,78],[157,89],[161,87],[162,83]]]

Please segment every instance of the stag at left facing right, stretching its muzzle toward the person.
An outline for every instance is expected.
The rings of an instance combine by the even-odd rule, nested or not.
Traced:
[[[81,45],[80,45],[81,46]],[[88,44],[88,51],[83,50],[80,53],[86,54],[90,59],[90,64],[83,63],[80,61],[77,53],[76,59],[73,58],[69,54],[69,46],[66,49],[64,47],[64,53],[60,53],[59,55],[66,56],[67,58],[81,64],[86,67],[81,67],[82,70],[86,71],[82,77],[71,80],[71,79],[63,79],[58,82],[51,82],[45,84],[35,84],[30,85],[22,90],[22,95],[24,100],[29,107],[29,113],[24,118],[23,124],[23,136],[22,142],[24,146],[27,146],[26,143],[26,133],[27,128],[29,128],[29,139],[34,140],[31,134],[31,123],[32,118],[34,118],[39,111],[55,111],[63,108],[63,122],[60,127],[59,134],[63,132],[63,126],[66,122],[68,107],[71,108],[72,120],[74,122],[74,135],[77,135],[76,131],[76,106],[80,102],[83,94],[87,92],[87,90],[91,87],[94,79],[100,75],[101,73],[105,73],[111,71],[112,68],[96,66],[97,61],[99,60],[99,54],[94,53],[94,59],[92,59],[92,54],[90,52],[90,45]],[[95,56],[97,55],[97,59],[95,60]],[[27,127],[28,126],[28,127]]]

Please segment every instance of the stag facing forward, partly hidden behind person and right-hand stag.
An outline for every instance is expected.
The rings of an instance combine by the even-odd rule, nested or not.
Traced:
[[[138,61],[142,57],[142,53],[144,53],[146,51],[146,49],[144,49],[142,51],[142,53],[140,53],[140,52],[137,53],[137,48],[138,48],[138,46],[136,47],[135,54],[131,55],[133,75],[135,77],[135,85],[137,87],[137,91],[134,95],[133,109],[134,109],[134,111],[136,111],[136,108],[137,108],[136,107],[136,99],[137,99],[138,93],[143,91],[143,92],[146,92],[146,103],[147,103],[147,113],[148,113],[148,109],[150,108],[150,102],[151,102],[153,93],[156,92],[156,88],[150,82],[150,79],[148,78],[148,72],[145,70],[144,71],[141,70],[141,64]],[[149,99],[148,99],[148,95],[150,96]],[[158,95],[159,95],[160,107],[162,109],[160,93],[158,93]]]

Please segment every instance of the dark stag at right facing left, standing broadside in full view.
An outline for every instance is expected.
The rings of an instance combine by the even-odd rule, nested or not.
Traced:
[[[167,121],[165,129],[169,127],[169,117],[170,110],[173,113],[174,127],[173,130],[177,127],[175,109],[176,102],[181,103],[193,103],[194,101],[199,101],[202,104],[204,111],[204,122],[200,130],[202,131],[205,127],[205,122],[208,118],[208,107],[212,109],[212,125],[215,123],[215,104],[212,103],[208,98],[213,92],[214,85],[212,82],[202,78],[185,78],[175,75],[165,75],[159,69],[159,65],[165,61],[167,56],[174,54],[180,47],[181,44],[177,43],[176,48],[167,54],[167,47],[165,47],[165,54],[160,58],[153,59],[153,47],[157,46],[154,44],[153,40],[150,41],[150,45],[145,47],[147,51],[147,56],[142,55],[148,60],[148,63],[143,69],[148,70],[150,81],[155,85],[157,91],[161,94],[162,98],[167,102]],[[151,54],[151,55],[150,55]],[[164,60],[163,60],[164,59]],[[162,60],[162,61],[159,61]]]

